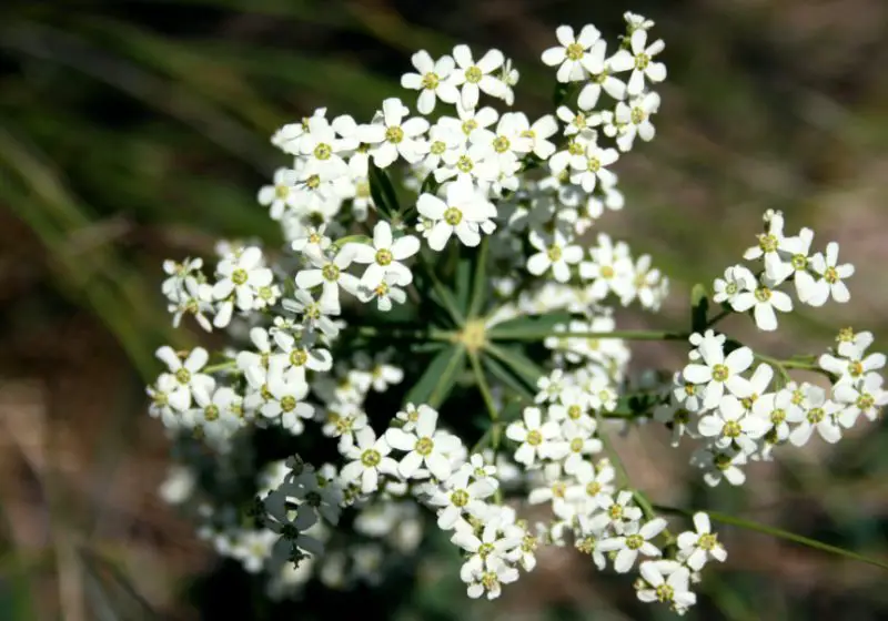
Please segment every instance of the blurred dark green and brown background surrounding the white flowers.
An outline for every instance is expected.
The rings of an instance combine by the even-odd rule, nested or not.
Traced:
[[[535,115],[549,111],[554,73],[538,58],[555,27],[593,22],[613,41],[625,10],[656,21],[669,77],[657,139],[618,165],[627,206],[599,225],[650,253],[673,297],[663,315],[623,323],[686,325],[690,286],[735,263],[777,208],[790,231],[814,227],[818,247],[841,243],[852,303],[795,313],[769,338],[744,318],[726,327],[781,357],[821,352],[845,325],[885,343],[884,0],[4,0],[0,619],[274,618],[157,496],[168,445],[143,386],[160,344],[199,337],[169,326],[161,261],[210,255],[220,236],[275,243],[255,203],[285,162],[272,132],[321,105],[366,119],[400,94],[412,52],[502,49],[522,73],[517,106]],[[685,356],[636,352],[639,367]],[[687,455],[659,430],[620,450],[657,501],[885,558],[888,434],[879,421],[851,436],[753,466],[743,491],[688,482]],[[728,563],[707,568],[690,618],[888,618],[884,571],[722,532]],[[367,618],[668,617],[569,550],[541,553],[493,605],[470,604],[453,578],[417,571]],[[287,618],[324,613],[311,605]]]

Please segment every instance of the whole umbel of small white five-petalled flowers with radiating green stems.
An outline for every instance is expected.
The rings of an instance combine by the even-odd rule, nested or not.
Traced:
[[[598,223],[624,206],[612,169],[654,138],[666,78],[654,23],[625,18],[610,44],[594,26],[556,30],[542,59],[557,103],[539,119],[509,109],[518,72],[498,50],[416,52],[406,92],[373,118],[320,109],[274,134],[289,165],[259,202],[285,248],[220,244],[211,272],[164,264],[173,323],[192,316],[230,345],[212,360],[158,350],[150,411],[179,439],[163,492],[220,553],[265,572],[270,595],[379,580],[436,528],[472,598],[533,571],[539,546],[574,546],[682,613],[726,559],[717,513],[669,530],[608,435],[664,424],[695,444],[706,483],[737,486],[750,461],[836,442],[888,403],[867,332],[789,359],[717,332],[731,313],[774,330],[794,304],[848,302],[838,245],[815,251],[780,213],[746,263],[695,289],[689,329],[616,329],[618,307],[657,310],[667,293],[650,257]],[[688,364],[630,378],[632,339],[686,343]],[[548,518],[523,517],[533,505]]]

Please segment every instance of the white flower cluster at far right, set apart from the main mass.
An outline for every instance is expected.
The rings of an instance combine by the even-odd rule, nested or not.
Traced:
[[[774,309],[791,309],[789,296],[773,287],[789,277],[805,304],[819,306],[830,296],[838,302],[849,299],[841,279],[854,273],[854,266],[837,266],[838,244],[830,242],[826,256],[808,256],[814,237],[809,228],[795,237],[784,236],[779,212],[768,212],[766,223],[767,233],[759,237],[759,245],[745,254],[763,259],[764,269],[755,276],[741,265],[728,268],[725,279],[715,282],[715,302],[735,312],[755,308],[757,326],[773,330],[777,327]],[[867,353],[874,342],[868,332],[842,329],[834,352],[808,362],[757,355],[713,329],[692,334],[689,340],[690,363],[675,375],[672,395],[655,418],[672,426],[675,445],[684,435],[704,441],[692,462],[703,469],[710,486],[723,479],[743,485],[749,460],[773,459],[774,448],[787,441],[800,447],[816,432],[835,444],[860,414],[875,420],[888,405],[888,391],[882,390],[878,373],[886,357]],[[829,386],[796,383],[788,368],[819,370]]]

